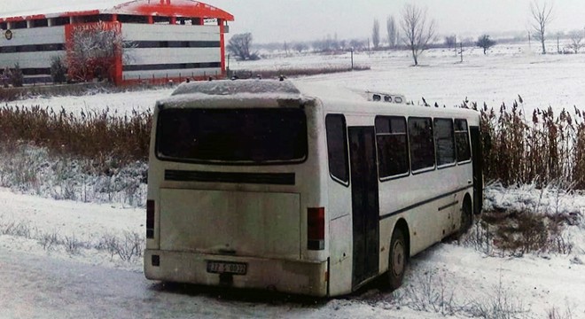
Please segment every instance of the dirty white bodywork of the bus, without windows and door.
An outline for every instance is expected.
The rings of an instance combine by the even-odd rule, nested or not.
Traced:
[[[266,83],[266,84],[265,84]],[[352,292],[388,269],[389,246],[396,223],[409,228],[409,255],[421,252],[459,229],[465,194],[473,196],[472,161],[432,167],[394,178],[368,178],[378,189],[375,234],[378,239],[376,273],[359,270],[355,261],[355,212],[352,181],[339,182],[329,171],[325,118],[342,114],[347,133],[361,127],[376,134],[377,116],[465,119],[479,126],[470,110],[389,105],[356,99],[344,89],[315,89],[303,83],[295,89],[270,81],[189,83],[217,86],[217,96],[181,94],[162,100],[153,113],[149,159],[148,199],[154,202],[154,230],[146,240],[144,273],[149,279],[192,284],[260,288],[313,296]],[[285,86],[286,92],[262,93],[263,86]],[[234,89],[231,88],[234,87]],[[253,89],[238,95],[238,87]],[[231,96],[224,92],[236,94]],[[236,92],[236,93],[233,93]],[[291,93],[293,92],[293,93]],[[161,109],[287,109],[303,110],[307,119],[307,157],[295,163],[250,165],[161,159],[156,152],[156,123]],[[213,113],[214,111],[212,111]],[[240,111],[238,111],[240,112]],[[244,111],[245,112],[245,111]],[[284,123],[285,124],[285,123]],[[471,130],[471,129],[470,129]],[[362,135],[362,133],[359,133]],[[349,144],[349,134],[346,136]],[[377,140],[374,144],[378,173]],[[348,169],[352,168],[347,145]],[[370,152],[371,153],[371,152]],[[475,154],[475,153],[474,153]],[[474,155],[475,156],[475,155]],[[167,170],[187,174],[292,174],[294,183],[264,184],[246,181],[175,181]],[[480,174],[476,172],[476,175]],[[349,175],[352,173],[349,172]],[[476,179],[477,180],[477,179]],[[476,182],[477,183],[477,182]],[[367,185],[366,185],[367,186]],[[368,186],[369,187],[369,186]],[[480,189],[480,188],[476,188]],[[323,245],[309,245],[309,210],[324,212]],[[310,247],[309,247],[310,246]],[[359,252],[358,252],[359,253]],[[363,252],[361,252],[363,255]],[[218,274],[209,262],[246,265],[246,273]],[[238,266],[239,267],[239,266]],[[355,271],[359,280],[355,281]],[[372,268],[373,269],[373,268]],[[213,270],[213,269],[212,269]],[[360,276],[361,275],[361,276]]]

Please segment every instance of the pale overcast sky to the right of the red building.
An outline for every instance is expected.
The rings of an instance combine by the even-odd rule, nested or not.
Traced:
[[[0,0],[4,1],[4,0]],[[531,0],[202,0],[230,12],[230,33],[251,32],[255,43],[317,40],[326,36],[365,39],[373,19],[386,36],[386,18],[400,17],[404,4],[426,7],[440,35],[526,32]],[[549,1],[549,4],[551,2]],[[542,0],[540,2],[542,4]],[[584,0],[554,1],[550,30],[583,30]]]

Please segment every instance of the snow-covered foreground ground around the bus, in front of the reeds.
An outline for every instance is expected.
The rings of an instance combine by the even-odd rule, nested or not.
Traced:
[[[583,201],[567,199],[573,207]],[[351,296],[307,300],[169,287],[144,278],[141,258],[121,261],[96,248],[106,234],[142,234],[143,218],[142,209],[0,189],[0,318],[444,318],[477,316],[496,302],[517,312],[511,317],[542,318],[554,310],[585,318],[581,227],[574,228],[569,255],[496,257],[469,246],[439,244],[411,261],[405,283],[394,293],[371,284]],[[16,231],[14,225],[28,231]],[[43,234],[77,234],[80,248],[71,253],[66,243],[43,247]]]

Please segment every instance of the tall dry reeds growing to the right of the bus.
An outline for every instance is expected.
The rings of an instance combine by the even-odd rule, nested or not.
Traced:
[[[476,103],[462,107],[478,110]],[[523,110],[521,97],[511,107],[479,109],[485,179],[585,189],[585,113],[575,107],[573,115],[565,109],[556,115],[549,107],[527,117]]]

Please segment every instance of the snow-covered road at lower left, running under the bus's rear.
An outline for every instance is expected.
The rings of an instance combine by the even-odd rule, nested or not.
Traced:
[[[1,318],[420,317],[408,309],[400,313],[373,307],[367,298],[291,301],[268,293],[254,297],[255,292],[167,287],[139,272],[6,248],[0,248],[0,269]]]

